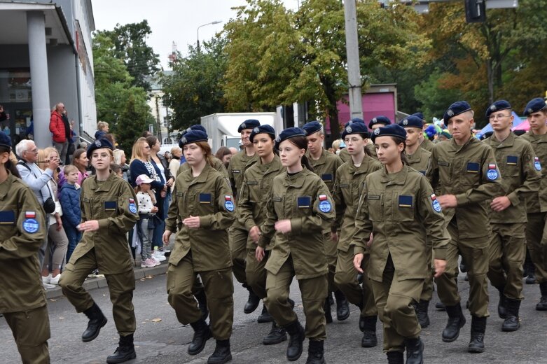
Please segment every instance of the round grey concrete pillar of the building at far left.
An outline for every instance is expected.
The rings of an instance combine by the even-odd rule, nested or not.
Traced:
[[[27,30],[29,32],[34,141],[38,148],[46,148],[51,146],[53,141],[49,131],[51,106],[46,54],[46,17],[42,11],[27,11]]]

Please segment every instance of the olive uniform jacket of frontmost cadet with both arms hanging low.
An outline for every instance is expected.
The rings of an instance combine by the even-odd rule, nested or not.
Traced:
[[[385,167],[369,174],[359,205],[350,245],[354,254],[363,253],[373,233],[368,247],[368,277],[373,281],[382,281],[389,254],[400,281],[425,279],[429,272],[426,231],[435,258],[445,259],[450,235],[433,188],[420,172],[405,165],[394,174],[388,174]]]

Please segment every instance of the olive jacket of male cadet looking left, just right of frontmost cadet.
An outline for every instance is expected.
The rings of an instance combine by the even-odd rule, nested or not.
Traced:
[[[456,217],[459,237],[490,235],[486,200],[503,195],[501,174],[494,151],[474,137],[463,146],[454,139],[435,144],[429,172],[431,186],[441,183],[442,195],[455,195],[457,207],[445,209],[445,221]]]

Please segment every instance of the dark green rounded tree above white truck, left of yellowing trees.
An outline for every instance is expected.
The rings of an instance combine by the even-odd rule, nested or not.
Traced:
[[[163,103],[172,109],[172,129],[199,124],[200,117],[224,111],[223,77],[226,71],[226,40],[220,36],[203,42],[200,50],[188,47],[171,63],[172,72],[162,73]]]

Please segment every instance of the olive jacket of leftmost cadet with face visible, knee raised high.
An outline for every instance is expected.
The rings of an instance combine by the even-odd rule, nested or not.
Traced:
[[[129,183],[111,172],[106,181],[91,176],[82,183],[82,221],[99,221],[99,230],[83,233],[70,258],[75,263],[95,248],[97,268],[102,274],[118,274],[133,269],[125,233],[139,220],[137,197]]]

